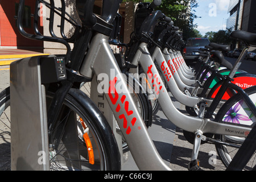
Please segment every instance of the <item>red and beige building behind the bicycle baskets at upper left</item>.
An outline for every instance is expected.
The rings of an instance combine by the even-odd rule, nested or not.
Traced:
[[[72,2],[73,0],[71,0]],[[55,6],[61,7],[60,0],[55,0]],[[101,12],[102,0],[96,0],[94,6],[94,12]],[[65,47],[59,43],[42,42],[38,40],[30,40],[20,35],[16,26],[16,20],[14,16],[18,13],[19,0],[0,0],[0,49],[26,49],[31,51],[38,51],[43,53],[65,53]],[[123,24],[121,30],[122,40],[129,42],[130,33],[133,31],[133,15],[134,15],[134,3],[122,3],[119,14],[123,17]],[[28,33],[33,33],[33,18],[31,14],[34,14],[35,0],[25,1],[25,12],[23,17],[24,30]],[[67,9],[68,10],[68,9]],[[69,13],[69,12],[68,12]],[[49,35],[49,9],[41,5],[40,7],[40,24],[39,30],[44,35]],[[60,17],[55,15],[55,20],[58,22]],[[125,21],[126,19],[126,21]],[[68,26],[67,26],[68,27]],[[70,28],[70,27],[69,27]],[[54,24],[54,31],[59,32],[58,23]],[[68,31],[68,30],[67,30]],[[126,32],[126,33],[124,33]]]

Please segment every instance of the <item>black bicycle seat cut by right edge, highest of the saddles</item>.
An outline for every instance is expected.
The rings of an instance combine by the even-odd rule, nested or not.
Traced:
[[[256,46],[256,34],[253,34],[251,32],[236,30],[230,34],[230,37],[234,39],[242,40],[248,44]]]

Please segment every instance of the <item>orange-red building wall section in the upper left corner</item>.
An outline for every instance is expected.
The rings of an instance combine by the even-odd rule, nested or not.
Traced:
[[[31,13],[35,10],[35,1],[26,0],[23,17],[24,30],[33,32]],[[19,34],[14,16],[18,13],[19,0],[0,0],[0,48],[20,48],[34,51],[43,50],[43,42],[24,38]],[[42,19],[40,19],[42,21]],[[39,26],[43,31],[42,24]]]

